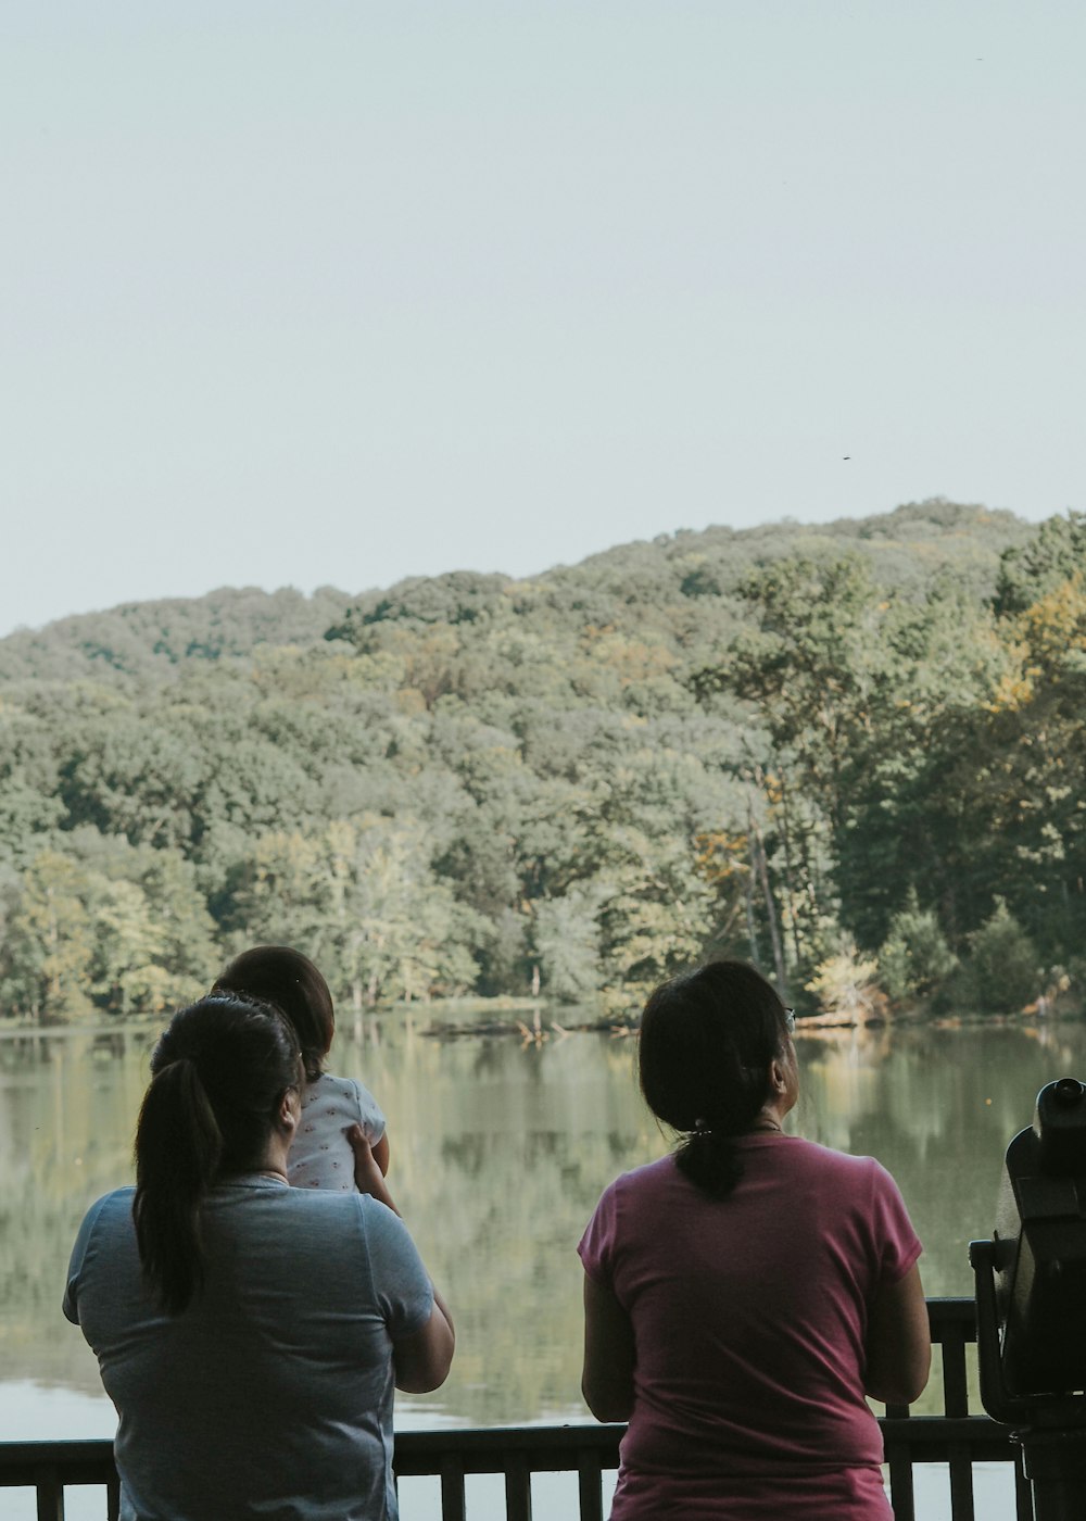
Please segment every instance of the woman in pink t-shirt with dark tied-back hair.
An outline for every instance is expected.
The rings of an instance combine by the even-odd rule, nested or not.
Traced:
[[[782,1132],[792,1015],[753,967],[665,983],[640,1083],[680,1135],[605,1189],[584,1262],[584,1398],[628,1421],[611,1521],[888,1521],[865,1395],[908,1404],[931,1343],[890,1174]]]

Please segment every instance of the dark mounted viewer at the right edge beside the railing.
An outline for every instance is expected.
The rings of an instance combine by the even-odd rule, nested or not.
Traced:
[[[1015,1427],[1036,1521],[1086,1516],[1086,1084],[1037,1094],[1007,1147],[992,1241],[970,1241],[987,1413]]]

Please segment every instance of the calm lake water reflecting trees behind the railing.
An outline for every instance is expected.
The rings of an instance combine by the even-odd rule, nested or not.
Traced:
[[[636,1042],[437,1040],[426,1024],[385,1016],[362,1039],[341,1031],[329,1063],[383,1106],[392,1194],[456,1319],[447,1384],[400,1396],[399,1422],[587,1421],[575,1246],[604,1185],[668,1148],[637,1092]],[[0,1039],[8,1439],[113,1431],[97,1364],[59,1300],[84,1211],[132,1180],[151,1040],[137,1030]],[[789,1129],[879,1157],[925,1243],[926,1291],[970,1294],[966,1247],[990,1235],[1007,1142],[1043,1083],[1086,1077],[1086,1021],[800,1028],[797,1051],[803,1097]]]

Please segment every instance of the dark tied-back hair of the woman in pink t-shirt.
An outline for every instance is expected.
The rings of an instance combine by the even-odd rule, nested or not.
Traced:
[[[735,1138],[770,1097],[788,1015],[745,961],[710,961],[663,983],[640,1021],[640,1089],[653,1113],[683,1136],[675,1161],[716,1197],[742,1177]]]

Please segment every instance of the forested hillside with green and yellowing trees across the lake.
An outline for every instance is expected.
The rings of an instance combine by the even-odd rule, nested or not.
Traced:
[[[1086,519],[943,500],[532,580],[222,590],[0,640],[0,1010],[157,1010],[236,948],[357,1007],[1015,1008],[1086,929]]]

